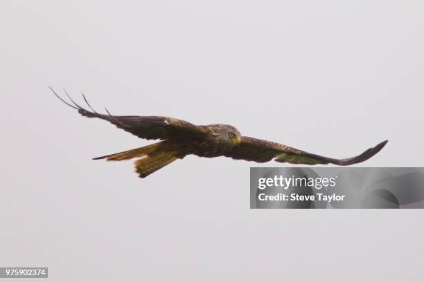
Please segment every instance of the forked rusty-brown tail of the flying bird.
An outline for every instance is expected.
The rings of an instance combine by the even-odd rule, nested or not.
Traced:
[[[164,141],[162,141],[145,147],[94,158],[93,160],[130,160],[132,158],[139,158],[139,160],[134,162],[134,168],[136,173],[139,173],[139,177],[145,178],[151,173],[154,173],[154,171],[177,160],[177,155],[178,151],[167,150],[164,146]]]

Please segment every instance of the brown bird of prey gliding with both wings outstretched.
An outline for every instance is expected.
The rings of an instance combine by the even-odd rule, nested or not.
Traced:
[[[107,109],[105,109],[107,114],[100,114],[94,111],[84,95],[82,97],[91,111],[76,104],[66,91],[65,94],[72,104],[62,99],[55,91],[53,93],[62,102],[78,110],[78,113],[87,118],[106,120],[139,138],[161,140],[148,146],[93,159],[130,160],[137,158],[134,167],[141,178],[188,155],[204,158],[225,156],[234,160],[254,162],[275,160],[290,164],[349,165],[368,160],[387,143],[387,140],[381,142],[376,147],[367,149],[353,158],[327,158],[283,144],[242,136],[236,127],[228,124],[195,125],[165,116],[111,115]]]

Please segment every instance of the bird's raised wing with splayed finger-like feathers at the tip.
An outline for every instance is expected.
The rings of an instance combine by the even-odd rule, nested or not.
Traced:
[[[53,91],[52,88],[50,89]],[[123,129],[129,133],[132,133],[139,138],[148,140],[166,140],[170,138],[201,138],[207,134],[206,129],[204,129],[203,126],[197,126],[195,124],[191,124],[190,122],[178,120],[176,118],[161,116],[111,115],[107,109],[107,115],[100,114],[91,108],[84,95],[82,95],[85,102],[87,103],[87,106],[89,106],[91,109],[91,111],[87,111],[86,109],[76,104],[76,102],[73,102],[66,91],[65,93],[73,104],[69,104],[69,102],[63,100],[62,97],[55,93],[55,91],[53,91],[53,93],[62,102],[68,106],[71,106],[73,109],[78,110],[78,113],[81,115],[84,115],[87,118],[100,118],[102,120],[107,120],[108,122],[116,125],[116,127],[119,129]]]

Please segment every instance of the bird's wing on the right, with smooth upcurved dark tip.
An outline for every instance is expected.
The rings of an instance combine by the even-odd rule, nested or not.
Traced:
[[[254,162],[289,162],[291,164],[337,164],[349,165],[363,162],[385,147],[387,140],[370,148],[353,158],[335,159],[315,155],[283,144],[242,136],[242,142],[225,156],[234,160],[251,160]]]

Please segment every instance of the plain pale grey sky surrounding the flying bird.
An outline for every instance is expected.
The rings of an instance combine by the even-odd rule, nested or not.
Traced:
[[[421,210],[251,210],[249,167],[144,180],[148,144],[61,104],[227,123],[357,166],[423,167],[423,1],[1,1],[0,266],[49,281],[422,281]]]

